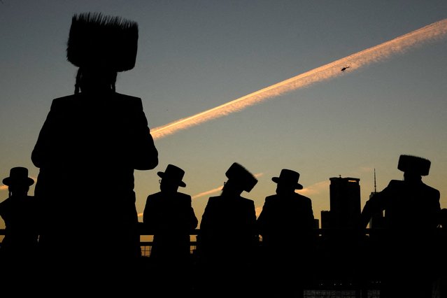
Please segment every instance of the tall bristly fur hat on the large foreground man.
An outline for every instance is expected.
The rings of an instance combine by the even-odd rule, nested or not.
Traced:
[[[66,58],[78,67],[128,71],[138,48],[138,24],[101,13],[73,15]]]

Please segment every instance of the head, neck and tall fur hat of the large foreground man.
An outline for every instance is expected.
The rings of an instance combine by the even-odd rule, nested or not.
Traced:
[[[115,91],[117,72],[133,69],[138,24],[101,13],[73,15],[66,57],[78,66],[75,93]]]

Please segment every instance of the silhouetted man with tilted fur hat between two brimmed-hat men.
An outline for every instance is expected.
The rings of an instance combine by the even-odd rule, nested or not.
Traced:
[[[257,183],[252,173],[234,163],[225,173],[218,197],[210,197],[201,218],[198,250],[201,295],[228,297],[235,293],[253,297],[253,258],[257,248],[255,204],[241,197]]]

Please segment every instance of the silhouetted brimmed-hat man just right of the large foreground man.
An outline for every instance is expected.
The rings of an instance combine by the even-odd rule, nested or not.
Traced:
[[[161,177],[160,192],[148,196],[143,211],[143,224],[153,233],[150,292],[161,297],[185,297],[192,293],[190,234],[198,220],[191,196],[178,192],[178,187],[186,186],[182,181],[185,171],[168,164],[157,175]]]

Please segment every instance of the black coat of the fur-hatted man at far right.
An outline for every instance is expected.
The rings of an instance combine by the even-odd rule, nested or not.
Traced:
[[[362,210],[362,227],[371,214],[385,211],[385,229],[377,236],[370,264],[383,264],[388,278],[432,276],[441,258],[436,241],[439,198],[439,191],[422,181],[391,180],[374,194]]]

